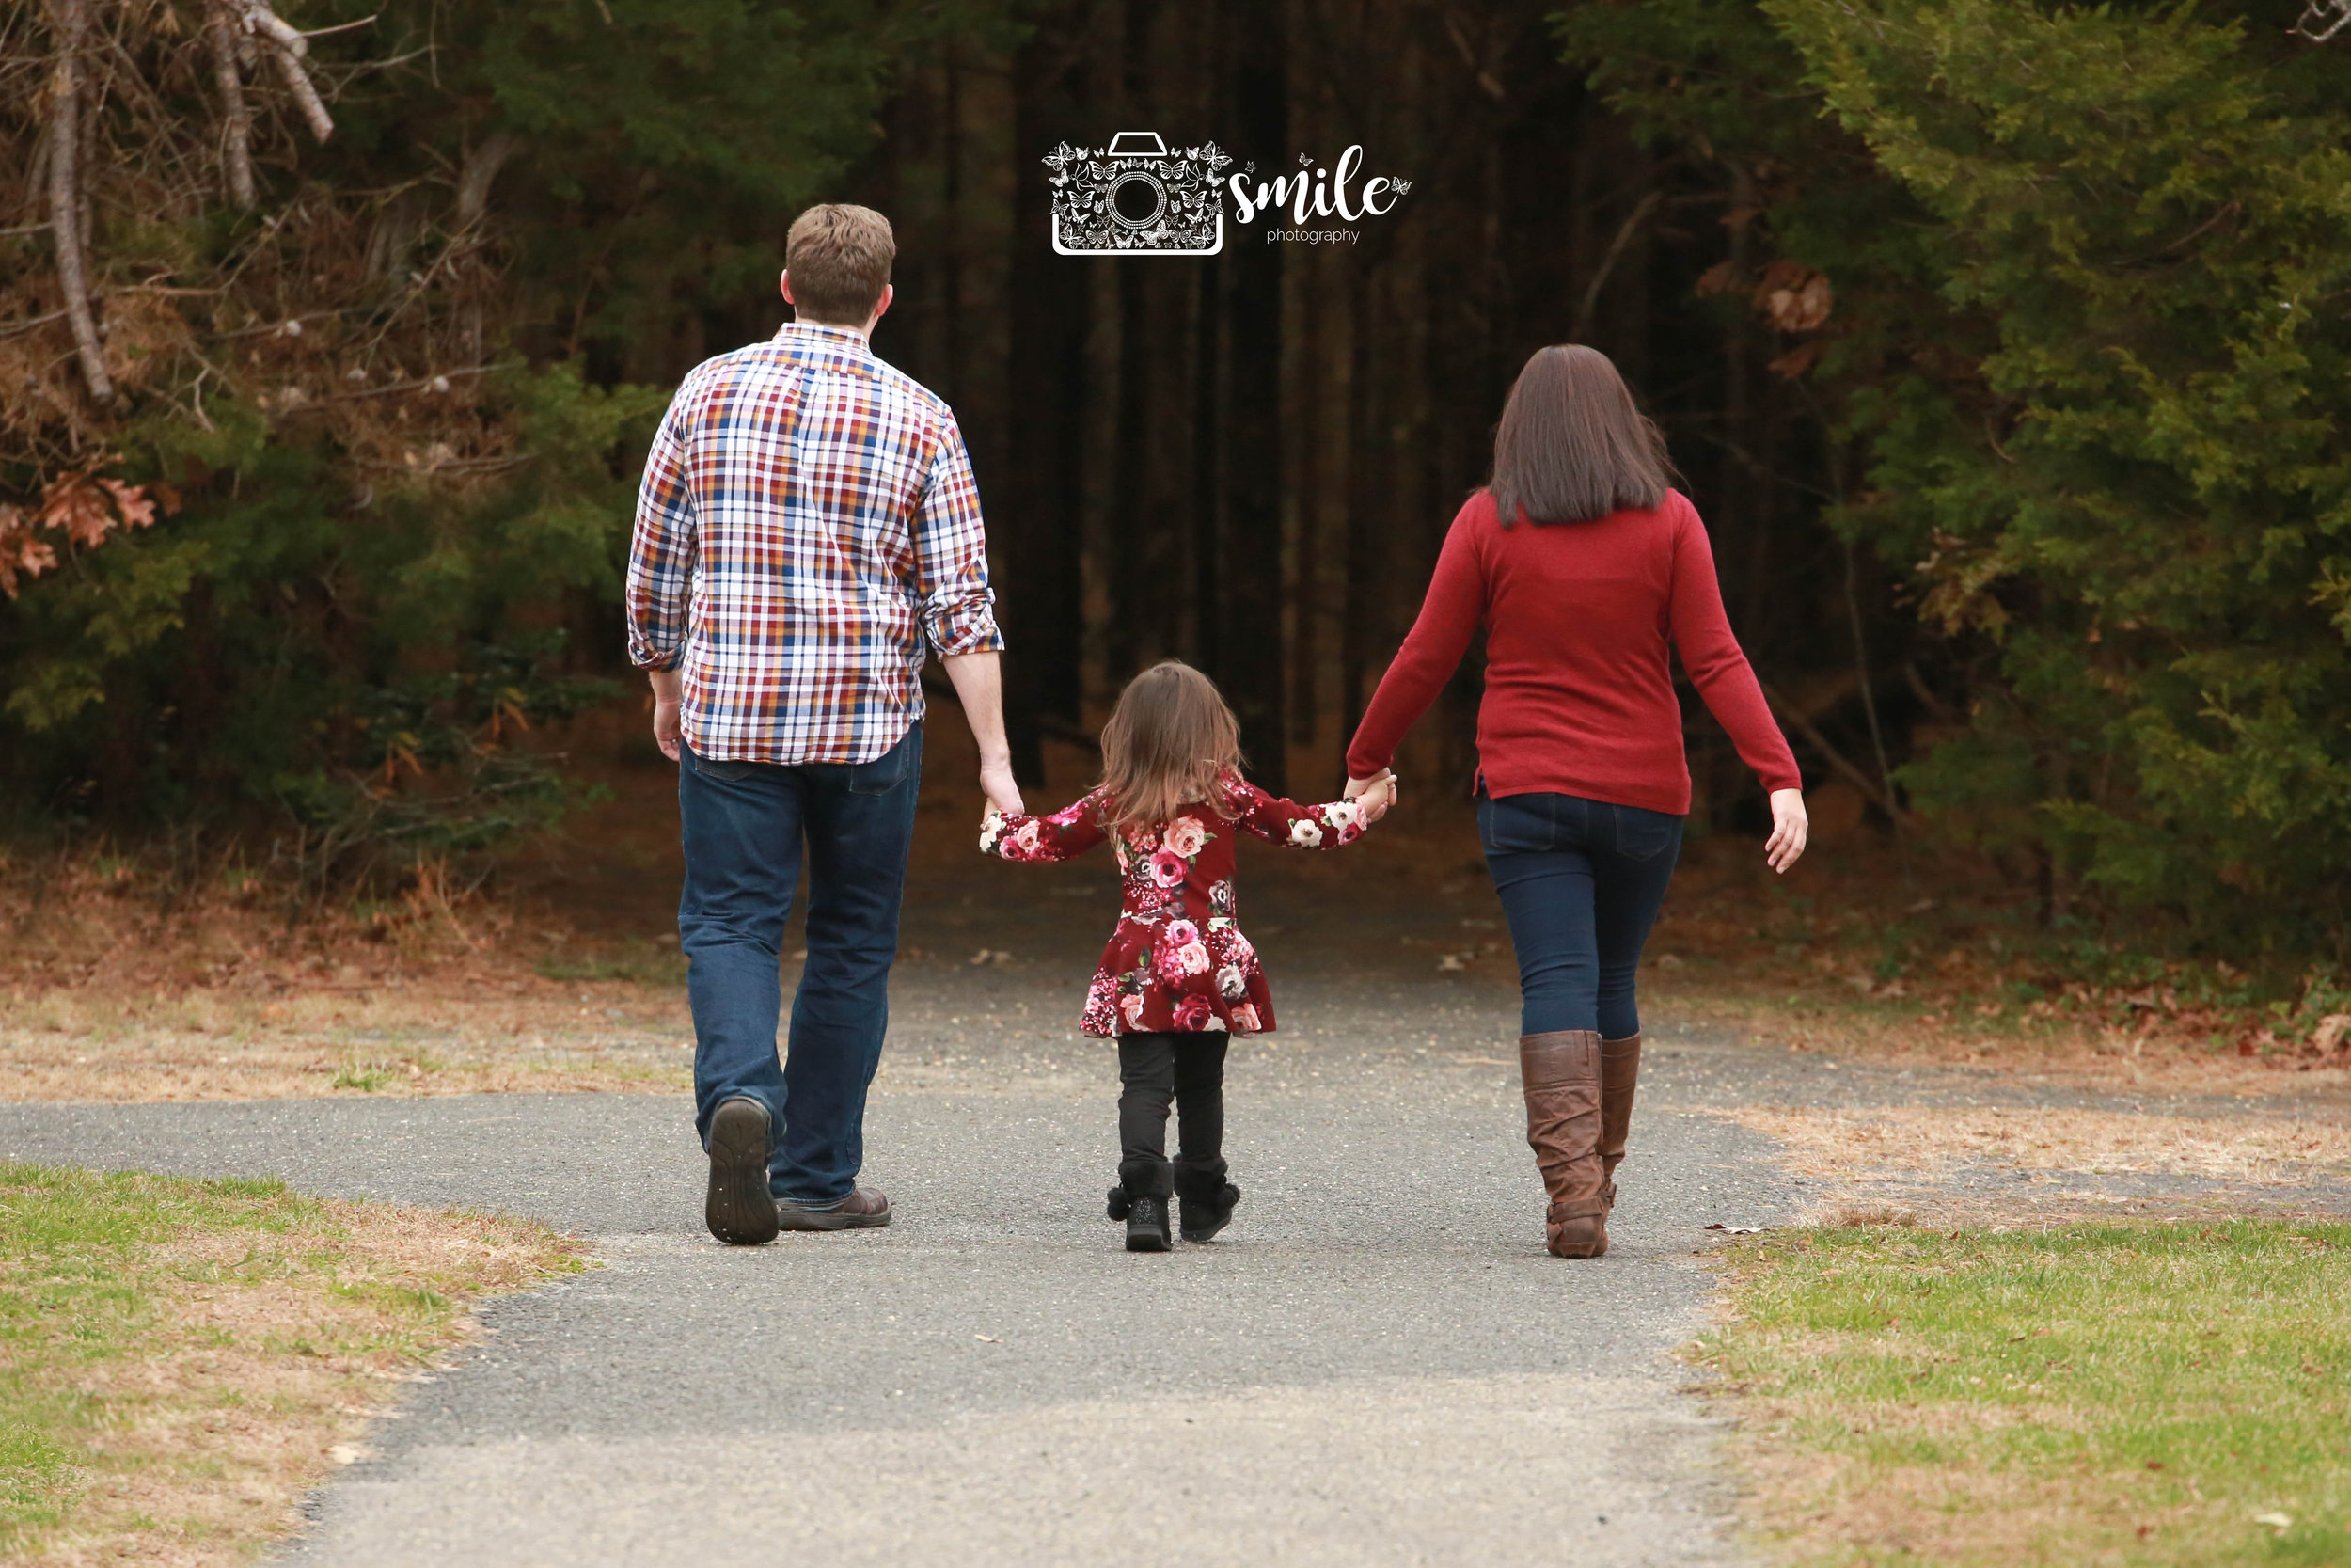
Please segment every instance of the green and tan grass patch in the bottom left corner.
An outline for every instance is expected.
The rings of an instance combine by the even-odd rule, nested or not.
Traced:
[[[503,1215],[0,1166],[0,1561],[252,1561],[473,1300],[578,1267]]]

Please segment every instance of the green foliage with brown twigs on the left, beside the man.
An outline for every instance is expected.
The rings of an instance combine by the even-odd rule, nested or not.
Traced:
[[[266,113],[249,66],[240,212],[205,7],[89,14],[113,42],[85,85],[110,402],[40,353],[63,341],[45,235],[0,237],[26,263],[0,348],[47,374],[0,409],[21,437],[0,498],[35,508],[9,508],[31,569],[0,604],[7,816],[292,818],[306,860],[346,863],[550,820],[576,790],[515,741],[618,691],[576,632],[616,637],[658,381],[734,346],[726,317],[771,294],[785,226],[870,141],[917,26],[860,0],[306,7],[306,28],[371,21],[308,52],[324,146]],[[42,47],[38,19],[0,33],[12,61]],[[9,103],[21,148],[42,113]],[[169,303],[141,294],[158,282]],[[174,515],[26,531],[85,470],[129,487],[125,522]]]

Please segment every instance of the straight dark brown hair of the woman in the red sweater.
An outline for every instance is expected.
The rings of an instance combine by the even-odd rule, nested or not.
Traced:
[[[1493,508],[1507,529],[1592,522],[1665,501],[1674,463],[1608,355],[1582,343],[1538,348],[1493,433]]]

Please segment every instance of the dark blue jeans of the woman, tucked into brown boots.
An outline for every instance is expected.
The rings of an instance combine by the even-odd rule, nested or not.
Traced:
[[[1519,950],[1519,1032],[1639,1034],[1634,973],[1674,879],[1681,818],[1582,795],[1481,790],[1476,837]]]

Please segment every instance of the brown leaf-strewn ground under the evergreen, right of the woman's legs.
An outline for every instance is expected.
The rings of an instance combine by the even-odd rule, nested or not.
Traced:
[[[1904,860],[1857,830],[1789,877],[1747,842],[1693,844],[1641,976],[1648,1001],[1768,1044],[2210,1093],[2344,1086],[2346,980],[2043,929],[2029,889],[1980,858],[1914,844]]]

